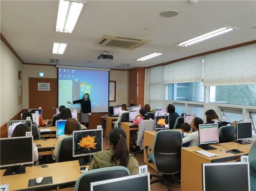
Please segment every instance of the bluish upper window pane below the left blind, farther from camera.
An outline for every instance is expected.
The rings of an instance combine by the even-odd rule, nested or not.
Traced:
[[[169,83],[165,86],[166,100],[203,102],[204,86],[202,82]]]

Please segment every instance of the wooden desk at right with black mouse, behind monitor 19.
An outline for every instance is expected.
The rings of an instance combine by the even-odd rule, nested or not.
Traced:
[[[216,153],[219,156],[208,158],[202,154],[195,153],[197,150],[202,150],[198,146],[182,148],[182,163],[181,163],[181,190],[182,191],[202,191],[202,163],[213,162],[235,162],[240,159],[241,155],[249,153],[252,144],[242,145],[236,142],[218,143],[220,146],[211,145],[216,150],[209,150],[211,153]],[[226,149],[225,147],[228,149]],[[243,153],[233,154],[223,151],[237,148]]]

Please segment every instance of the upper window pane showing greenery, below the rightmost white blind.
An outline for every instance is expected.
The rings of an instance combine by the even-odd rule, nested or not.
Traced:
[[[210,86],[209,102],[256,106],[256,84]]]

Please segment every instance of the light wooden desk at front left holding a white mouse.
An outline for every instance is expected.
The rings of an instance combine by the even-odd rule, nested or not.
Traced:
[[[38,190],[46,188],[56,188],[62,185],[75,185],[75,181],[81,175],[78,160],[47,164],[48,168],[41,166],[27,166],[26,173],[3,176],[5,169],[1,170],[1,184],[9,184],[9,190]],[[88,168],[89,166],[86,166]],[[47,171],[47,172],[46,172]],[[45,172],[45,173],[44,173]],[[43,175],[44,173],[44,175]],[[53,178],[53,184],[28,186],[28,180],[41,177]]]

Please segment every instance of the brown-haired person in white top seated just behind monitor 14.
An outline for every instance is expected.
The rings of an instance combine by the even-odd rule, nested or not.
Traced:
[[[73,119],[73,118],[67,119],[67,121],[65,123],[64,134],[59,136],[59,138],[58,138],[58,140],[55,144],[54,157],[57,158],[59,147],[60,147],[60,144],[61,144],[61,140],[63,140],[67,136],[73,136],[73,131],[79,131],[79,130],[81,130],[80,125],[76,121],[76,119]]]

